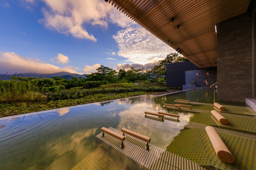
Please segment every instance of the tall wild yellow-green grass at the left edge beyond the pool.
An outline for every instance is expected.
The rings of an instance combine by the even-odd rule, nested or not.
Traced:
[[[2,103],[31,102],[45,99],[37,86],[37,81],[3,80],[3,78],[0,80],[0,102]]]

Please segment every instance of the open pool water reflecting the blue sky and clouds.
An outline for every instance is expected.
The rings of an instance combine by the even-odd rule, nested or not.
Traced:
[[[80,161],[88,164],[88,168],[99,166],[99,162],[104,164],[104,168],[121,168],[122,164],[116,163],[104,150],[95,149],[95,136],[101,133],[101,127],[130,129],[151,137],[151,144],[168,150],[174,137],[188,125],[187,122],[191,118],[197,121],[197,113],[162,108],[165,103],[174,104],[176,99],[214,103],[217,96],[213,89],[195,89],[166,96],[143,95],[0,118],[0,169],[71,169]],[[245,105],[237,107],[250,112],[250,116],[254,114],[248,107],[242,106]],[[205,105],[193,107],[205,110],[213,108]],[[174,118],[161,122],[144,117],[144,111],[179,114],[180,121]],[[215,123],[212,119],[208,120],[209,114],[205,115],[205,124]],[[198,116],[201,116],[200,113]],[[254,126],[255,119],[252,117],[252,120]],[[246,130],[255,133],[253,127]],[[184,156],[182,154],[180,156]],[[194,161],[193,158],[190,160]]]

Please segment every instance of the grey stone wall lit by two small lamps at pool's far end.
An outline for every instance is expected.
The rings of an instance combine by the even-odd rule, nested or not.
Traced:
[[[208,72],[209,74],[207,74]],[[217,82],[217,67],[185,71],[185,85],[191,85],[191,81],[195,81],[196,86],[204,87],[205,80],[208,83],[208,87]]]

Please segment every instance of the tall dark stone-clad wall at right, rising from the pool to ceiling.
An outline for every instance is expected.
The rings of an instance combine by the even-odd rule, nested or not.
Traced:
[[[218,100],[252,97],[252,14],[217,24]]]

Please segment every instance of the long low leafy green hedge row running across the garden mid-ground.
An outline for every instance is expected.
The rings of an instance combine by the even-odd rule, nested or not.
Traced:
[[[48,100],[78,99],[93,94],[128,93],[137,91],[167,91],[165,87],[132,87],[132,88],[105,88],[105,89],[83,89],[80,91],[61,91],[46,93]]]

